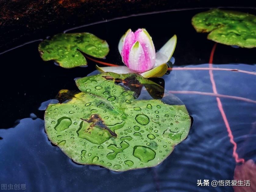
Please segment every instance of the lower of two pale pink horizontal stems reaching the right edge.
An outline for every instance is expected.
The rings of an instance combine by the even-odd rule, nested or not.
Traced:
[[[246,101],[246,102],[250,102],[250,103],[256,103],[255,100],[248,99],[248,98],[244,98],[244,97],[237,97],[237,96],[231,96],[231,95],[222,95],[222,94],[215,94],[215,93],[201,92],[201,91],[169,91],[169,93],[172,93],[172,94],[199,94],[199,95],[208,95],[208,96],[230,98],[230,99],[236,99],[236,100]]]

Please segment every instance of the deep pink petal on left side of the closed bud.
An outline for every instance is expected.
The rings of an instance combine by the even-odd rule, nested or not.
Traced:
[[[135,43],[135,35],[134,33],[130,30],[127,31],[126,37],[124,39],[124,44],[121,52],[121,56],[123,58],[124,64],[129,67],[128,59],[129,59],[129,53],[130,49]]]

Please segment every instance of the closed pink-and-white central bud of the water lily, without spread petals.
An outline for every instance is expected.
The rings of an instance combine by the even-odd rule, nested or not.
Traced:
[[[123,39],[121,56],[124,64],[136,72],[145,72],[155,65],[155,46],[145,29],[128,30]]]

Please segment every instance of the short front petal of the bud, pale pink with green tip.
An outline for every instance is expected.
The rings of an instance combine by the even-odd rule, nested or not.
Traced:
[[[128,64],[129,69],[137,72],[144,72],[151,69],[145,65],[145,54],[139,41],[136,41],[130,50]]]

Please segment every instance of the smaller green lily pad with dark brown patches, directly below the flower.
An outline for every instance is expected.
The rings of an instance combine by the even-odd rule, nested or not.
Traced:
[[[104,86],[95,86],[95,83],[97,84],[98,82],[105,82],[105,84]],[[127,99],[133,100],[134,98],[138,98],[143,86],[147,89],[152,98],[162,98],[164,95],[164,87],[149,79],[143,78],[137,73],[101,73],[77,79],[76,85],[80,91],[96,94],[105,99],[108,99],[107,93],[111,92],[111,95],[117,95],[114,105],[120,105],[120,103],[125,102]],[[119,97],[118,95],[120,93],[124,97]]]

